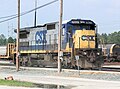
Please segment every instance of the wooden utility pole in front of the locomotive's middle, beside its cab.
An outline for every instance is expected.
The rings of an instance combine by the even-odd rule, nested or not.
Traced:
[[[60,17],[59,17],[59,32],[58,32],[58,73],[61,72],[61,32],[62,32],[62,16],[63,16],[63,0],[60,0]]]

